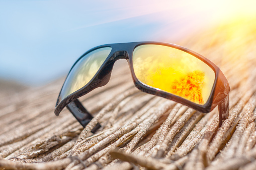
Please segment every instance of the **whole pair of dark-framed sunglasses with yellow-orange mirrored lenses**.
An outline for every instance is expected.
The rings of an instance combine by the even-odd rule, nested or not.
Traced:
[[[107,44],[84,53],[72,66],[60,90],[55,114],[67,107],[85,127],[93,116],[77,98],[106,85],[115,61],[126,59],[135,86],[207,113],[216,106],[219,126],[229,115],[230,87],[221,70],[207,58],[176,44],[133,42]],[[98,123],[92,132],[101,125]]]

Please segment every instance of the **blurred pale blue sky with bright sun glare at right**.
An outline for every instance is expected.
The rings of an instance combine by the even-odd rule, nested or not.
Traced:
[[[0,78],[43,85],[66,76],[92,47],[119,42],[179,42],[253,1],[0,0]],[[254,4],[253,4],[254,3]],[[249,14],[251,15],[251,14]]]

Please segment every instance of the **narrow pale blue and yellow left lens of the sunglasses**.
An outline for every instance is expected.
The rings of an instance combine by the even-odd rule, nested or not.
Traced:
[[[111,47],[94,50],[77,61],[62,87],[59,102],[89,83],[107,59]]]

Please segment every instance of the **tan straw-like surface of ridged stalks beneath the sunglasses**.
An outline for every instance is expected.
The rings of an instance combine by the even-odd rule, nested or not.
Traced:
[[[63,79],[0,91],[0,169],[255,169],[255,23],[237,19],[179,43],[229,81],[230,115],[220,128],[217,109],[203,114],[140,92],[118,61],[106,86],[80,98],[94,115],[84,129],[67,109],[53,113]]]

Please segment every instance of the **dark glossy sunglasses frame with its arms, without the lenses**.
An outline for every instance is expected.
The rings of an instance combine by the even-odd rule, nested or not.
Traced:
[[[211,90],[211,93],[209,95],[209,98],[207,102],[204,105],[193,103],[192,101],[189,101],[187,99],[184,99],[180,96],[167,93],[165,91],[150,87],[145,85],[144,83],[140,82],[137,77],[135,76],[134,69],[133,69],[133,61],[132,61],[132,55],[133,51],[136,47],[141,45],[162,45],[167,47],[172,47],[175,49],[182,50],[186,53],[189,53],[193,55],[194,57],[198,58],[199,60],[203,61],[205,64],[207,64],[215,73],[215,80],[213,83],[213,87]],[[228,81],[222,71],[210,60],[203,57],[202,55],[189,50],[185,47],[176,45],[176,44],[170,44],[170,43],[160,43],[160,42],[132,42],[132,43],[117,43],[117,44],[106,44],[97,46],[95,48],[90,49],[86,53],[84,53],[78,60],[73,64],[72,68],[75,66],[75,64],[85,55],[88,53],[104,48],[104,47],[111,47],[111,52],[102,64],[102,66],[99,68],[95,76],[90,80],[89,83],[84,85],[79,90],[69,94],[64,99],[62,99],[60,102],[60,94],[62,91],[62,88],[60,90],[56,107],[55,107],[55,114],[58,116],[60,111],[67,106],[69,111],[75,116],[75,118],[80,122],[80,124],[85,127],[90,120],[93,118],[93,116],[82,106],[82,104],[78,101],[77,98],[89,93],[90,91],[94,90],[97,87],[101,87],[106,85],[109,82],[111,72],[114,66],[114,63],[119,59],[126,59],[130,66],[130,71],[132,74],[132,79],[135,84],[135,86],[146,93],[153,94],[156,96],[160,96],[166,99],[170,99],[176,102],[179,102],[181,104],[184,104],[188,107],[191,107],[193,109],[196,109],[200,112],[207,113],[212,111],[217,105],[219,108],[219,125],[221,126],[222,121],[225,120],[229,115],[229,97],[228,93],[230,91],[230,87],[228,84]],[[72,68],[70,69],[69,73],[71,72]],[[68,75],[69,75],[68,73]],[[68,77],[67,75],[67,77]],[[67,79],[66,77],[66,79]],[[65,80],[66,81],[66,80]],[[65,83],[65,82],[64,82]],[[63,85],[64,85],[63,83]],[[100,127],[100,124],[97,124],[95,129],[92,130],[92,132],[95,132]]]

